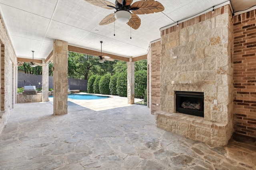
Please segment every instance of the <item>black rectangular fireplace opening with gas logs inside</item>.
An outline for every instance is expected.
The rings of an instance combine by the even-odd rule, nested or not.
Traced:
[[[176,112],[204,117],[204,93],[176,91]]]

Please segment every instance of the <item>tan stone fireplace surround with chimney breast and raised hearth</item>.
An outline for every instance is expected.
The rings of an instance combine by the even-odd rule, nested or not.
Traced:
[[[210,145],[228,143],[233,133],[232,31],[226,5],[161,32],[158,127]],[[204,117],[175,113],[176,91],[204,92]]]

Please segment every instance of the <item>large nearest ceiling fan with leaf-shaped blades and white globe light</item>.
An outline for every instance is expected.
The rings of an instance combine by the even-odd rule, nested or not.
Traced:
[[[138,29],[140,27],[140,18],[137,14],[152,14],[154,12],[161,12],[164,10],[164,6],[160,2],[154,0],[140,0],[133,4],[133,0],[116,0],[115,5],[106,0],[85,1],[101,8],[110,10],[116,9],[116,12],[106,16],[100,22],[100,25],[106,25],[114,21],[118,21],[121,23],[127,23],[133,29]]]

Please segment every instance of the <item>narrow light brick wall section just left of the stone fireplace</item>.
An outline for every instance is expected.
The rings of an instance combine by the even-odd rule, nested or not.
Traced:
[[[148,98],[150,100],[150,110],[151,114],[155,111],[160,110],[160,67],[161,67],[161,46],[160,41],[152,43],[150,47],[150,92],[151,94]],[[149,76],[148,76],[149,77]],[[158,106],[157,106],[158,104]]]

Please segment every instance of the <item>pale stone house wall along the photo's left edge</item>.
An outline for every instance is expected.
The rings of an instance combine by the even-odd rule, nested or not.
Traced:
[[[17,94],[17,57],[12,47],[12,42],[6,31],[4,21],[0,15],[0,46],[1,46],[1,109],[0,109],[0,133],[4,128],[13,108],[14,94]],[[10,79],[12,74],[12,79]],[[12,87],[10,85],[12,84]]]

